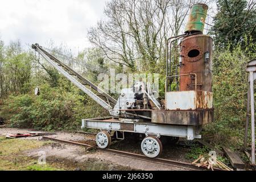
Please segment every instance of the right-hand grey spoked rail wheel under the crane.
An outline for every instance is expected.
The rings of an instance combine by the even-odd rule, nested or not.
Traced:
[[[155,158],[161,154],[162,149],[162,143],[157,137],[146,137],[141,142],[141,150],[148,158]]]

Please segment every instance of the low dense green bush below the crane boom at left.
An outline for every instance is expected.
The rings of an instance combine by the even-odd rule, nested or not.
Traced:
[[[10,96],[3,101],[0,114],[13,127],[44,130],[76,130],[81,126],[81,119],[107,114],[94,101],[71,87],[71,92],[68,92],[63,87],[51,88],[45,84],[41,86],[40,96],[32,92]]]

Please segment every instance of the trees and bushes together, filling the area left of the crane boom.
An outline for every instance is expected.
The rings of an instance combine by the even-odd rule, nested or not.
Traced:
[[[39,62],[32,50],[24,51],[19,42],[9,46],[1,42],[0,50],[0,117],[7,125],[77,130],[82,118],[106,115],[104,109],[55,69]],[[40,88],[39,96],[34,94],[36,86]]]

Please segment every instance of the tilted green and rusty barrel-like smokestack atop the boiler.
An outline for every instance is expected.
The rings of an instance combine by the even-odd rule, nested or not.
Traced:
[[[202,32],[204,31],[205,18],[207,16],[208,6],[205,4],[195,4],[191,8],[188,17],[185,33]]]

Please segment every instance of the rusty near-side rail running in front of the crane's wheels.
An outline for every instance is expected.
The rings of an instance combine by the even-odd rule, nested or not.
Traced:
[[[190,168],[192,170],[206,170],[207,168],[205,167],[196,167],[191,163],[187,162],[180,162],[177,160],[170,160],[170,159],[163,159],[163,158],[148,158],[147,156],[141,155],[141,154],[135,154],[133,152],[127,152],[127,151],[120,151],[120,150],[114,150],[110,148],[100,148],[97,147],[96,145],[90,145],[90,144],[85,144],[85,143],[80,143],[80,142],[73,142],[70,140],[63,140],[63,139],[56,139],[52,137],[43,137],[43,139],[48,139],[48,140],[53,140],[56,142],[63,142],[63,143],[68,143],[68,144],[74,144],[77,146],[83,146],[86,148],[86,150],[90,150],[91,148],[97,148],[97,150],[109,154],[114,154],[114,155],[119,155],[119,156],[125,156],[127,158],[132,158],[132,159],[137,159],[137,160],[143,160],[147,162],[154,162],[158,164],[163,164],[166,166],[173,166],[173,167],[181,167],[181,168]],[[216,171],[221,171],[219,168],[213,168]]]

